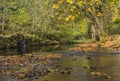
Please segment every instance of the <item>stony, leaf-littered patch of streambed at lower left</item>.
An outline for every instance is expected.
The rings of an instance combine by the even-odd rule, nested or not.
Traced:
[[[6,81],[32,81],[57,71],[60,54],[0,56],[0,75]],[[0,80],[1,81],[1,80]]]

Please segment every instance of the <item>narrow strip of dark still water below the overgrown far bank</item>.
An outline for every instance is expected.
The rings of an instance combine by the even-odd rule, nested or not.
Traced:
[[[41,45],[41,46],[28,46],[24,53],[42,53],[42,52],[62,52],[65,51],[67,48],[74,47],[76,45]],[[0,49],[0,55],[17,55],[20,52],[23,52],[17,48],[13,49]]]

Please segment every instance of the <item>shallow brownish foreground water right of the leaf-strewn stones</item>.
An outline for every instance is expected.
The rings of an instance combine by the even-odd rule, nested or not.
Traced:
[[[84,66],[94,66],[96,69],[83,68]],[[76,61],[70,57],[65,57],[62,58],[60,69],[66,67],[72,68],[70,75],[54,72],[35,81],[120,81],[120,55],[92,56],[91,59],[78,56]],[[91,72],[93,71],[106,73],[112,78],[92,76]]]

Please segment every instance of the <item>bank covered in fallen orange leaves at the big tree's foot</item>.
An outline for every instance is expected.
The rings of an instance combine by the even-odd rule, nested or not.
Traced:
[[[120,36],[113,35],[105,38],[105,42],[96,42],[91,41],[83,44],[79,44],[77,47],[70,48],[70,51],[83,51],[83,52],[91,52],[98,51],[99,49],[107,49],[111,51],[119,51],[120,50]]]

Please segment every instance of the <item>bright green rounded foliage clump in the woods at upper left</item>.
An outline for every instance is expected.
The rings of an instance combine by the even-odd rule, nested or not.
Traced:
[[[10,30],[23,32],[29,23],[29,15],[25,8],[20,8],[16,14],[12,14],[9,17]],[[24,31],[25,32],[25,31]]]

